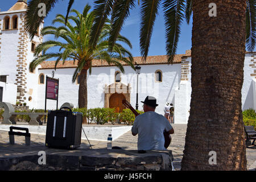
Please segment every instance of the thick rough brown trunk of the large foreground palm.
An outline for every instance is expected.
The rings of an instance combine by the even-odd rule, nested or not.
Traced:
[[[192,95],[181,170],[246,170],[241,89],[246,0],[193,1]],[[216,164],[210,164],[216,152]]]

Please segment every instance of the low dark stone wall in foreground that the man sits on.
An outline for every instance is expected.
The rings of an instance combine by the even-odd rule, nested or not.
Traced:
[[[0,158],[1,171],[171,171],[171,151],[87,150],[82,155],[48,154],[46,165],[38,155]]]

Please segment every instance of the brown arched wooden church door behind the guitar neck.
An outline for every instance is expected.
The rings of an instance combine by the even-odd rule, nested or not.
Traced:
[[[109,98],[109,107],[115,108],[116,113],[122,113],[125,106],[122,104],[122,100],[126,99],[121,93],[114,93]]]

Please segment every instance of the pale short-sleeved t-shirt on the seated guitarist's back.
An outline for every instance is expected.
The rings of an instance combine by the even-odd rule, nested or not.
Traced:
[[[139,134],[138,150],[166,150],[163,132],[171,129],[163,115],[148,111],[136,117],[131,132]]]

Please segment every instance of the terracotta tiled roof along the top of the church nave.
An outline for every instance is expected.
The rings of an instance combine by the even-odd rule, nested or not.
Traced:
[[[186,53],[189,53],[189,51]],[[187,54],[183,55],[175,55],[174,57],[174,64],[181,63],[181,57],[189,56]],[[163,56],[148,56],[147,61],[142,60],[142,57],[134,57],[134,65],[148,65],[148,64],[168,64],[168,57],[166,55]],[[44,61],[40,64],[41,68],[39,69],[54,69],[55,68],[55,61]],[[93,60],[92,61],[93,67],[109,67],[114,66],[113,64],[108,64],[105,60]],[[127,65],[126,63],[122,63],[122,65]],[[77,61],[60,61],[57,64],[57,68],[76,68]]]

